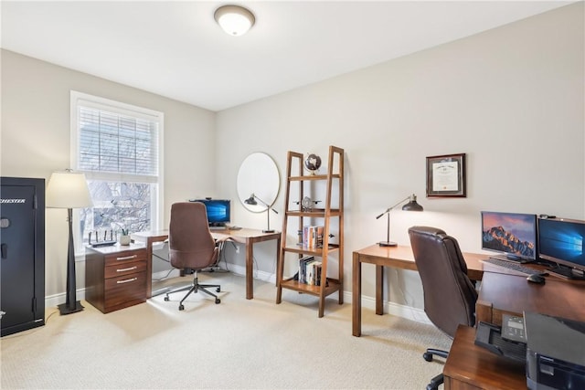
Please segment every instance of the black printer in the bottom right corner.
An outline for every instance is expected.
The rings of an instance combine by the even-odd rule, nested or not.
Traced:
[[[527,387],[585,389],[585,322],[524,312]]]

